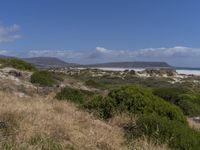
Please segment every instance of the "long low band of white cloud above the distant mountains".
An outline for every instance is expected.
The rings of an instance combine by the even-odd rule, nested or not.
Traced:
[[[92,51],[31,50],[29,57],[51,56],[76,63],[102,63],[110,61],[166,61],[175,66],[200,64],[200,48],[176,46],[172,48],[146,48],[139,50],[115,50],[96,47]],[[196,65],[195,65],[196,64]],[[200,67],[200,66],[199,66]]]

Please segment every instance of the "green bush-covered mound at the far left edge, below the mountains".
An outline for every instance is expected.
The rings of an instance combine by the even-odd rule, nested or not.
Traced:
[[[1,67],[13,67],[16,69],[28,71],[36,70],[33,65],[17,58],[0,58],[0,64],[2,65]]]

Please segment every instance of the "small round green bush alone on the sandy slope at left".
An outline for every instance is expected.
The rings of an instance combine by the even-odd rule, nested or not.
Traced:
[[[39,84],[40,86],[53,86],[56,80],[51,72],[36,71],[31,75],[31,83]]]

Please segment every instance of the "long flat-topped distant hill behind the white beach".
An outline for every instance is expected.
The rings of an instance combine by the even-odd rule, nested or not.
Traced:
[[[169,64],[166,62],[143,62],[143,61],[135,61],[135,62],[110,62],[110,63],[102,63],[102,64],[91,64],[84,65],[85,67],[108,67],[108,68],[171,68]]]

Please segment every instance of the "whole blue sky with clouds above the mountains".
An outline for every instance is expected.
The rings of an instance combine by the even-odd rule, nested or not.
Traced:
[[[0,54],[200,67],[198,0],[0,0]]]

